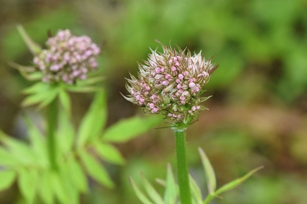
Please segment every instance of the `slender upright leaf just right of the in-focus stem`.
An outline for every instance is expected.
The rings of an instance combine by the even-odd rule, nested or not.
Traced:
[[[203,163],[203,166],[204,166],[204,171],[205,171],[205,176],[206,176],[209,194],[213,194],[215,189],[216,189],[216,179],[215,179],[214,170],[213,170],[211,163],[210,163],[208,157],[206,156],[205,152],[200,147],[199,147],[199,153],[200,153],[202,163]]]

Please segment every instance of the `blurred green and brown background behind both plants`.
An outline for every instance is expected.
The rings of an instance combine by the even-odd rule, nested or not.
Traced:
[[[125,101],[125,77],[137,72],[155,39],[178,44],[220,67],[207,84],[213,95],[200,120],[188,129],[189,170],[205,190],[197,147],[207,153],[220,186],[248,170],[265,168],[212,203],[307,203],[307,1],[0,1],[0,127],[18,137],[21,90],[31,85],[7,62],[29,65],[31,53],[16,31],[21,23],[43,44],[50,30],[71,29],[101,46],[100,69],[108,91],[108,125],[142,114]],[[72,94],[75,120],[92,96]],[[28,108],[36,117],[39,112]],[[163,124],[162,124],[163,125]],[[23,138],[25,139],[25,138]],[[140,203],[128,182],[142,171],[154,182],[173,167],[171,130],[151,130],[119,146],[127,163],[109,166],[117,187],[96,183],[82,203]],[[1,181],[0,181],[1,182]],[[158,189],[162,189],[156,185]],[[30,188],[30,187],[29,187]],[[205,191],[204,191],[205,193]],[[0,193],[0,203],[22,203],[17,185]]]

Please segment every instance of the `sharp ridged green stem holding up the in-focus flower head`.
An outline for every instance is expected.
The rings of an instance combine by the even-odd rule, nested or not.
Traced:
[[[186,134],[184,129],[173,128],[176,140],[178,183],[182,204],[191,204],[188,166],[186,162]]]

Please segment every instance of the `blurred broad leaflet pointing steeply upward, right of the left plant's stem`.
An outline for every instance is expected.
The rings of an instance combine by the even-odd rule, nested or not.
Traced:
[[[106,117],[106,93],[99,91],[81,121],[78,131],[79,146],[98,136],[106,122]]]

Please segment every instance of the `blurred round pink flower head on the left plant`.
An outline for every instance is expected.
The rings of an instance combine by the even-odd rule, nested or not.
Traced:
[[[34,57],[34,64],[42,72],[43,82],[74,83],[86,79],[90,70],[97,68],[96,56],[100,48],[87,36],[73,36],[69,30],[60,30],[46,42]]]

